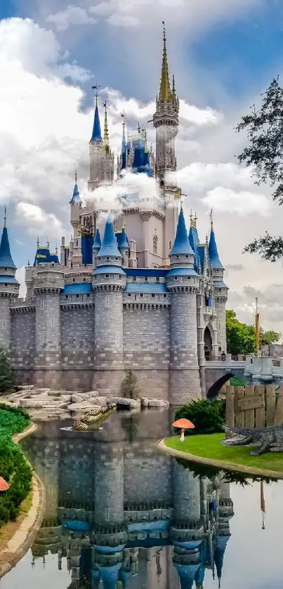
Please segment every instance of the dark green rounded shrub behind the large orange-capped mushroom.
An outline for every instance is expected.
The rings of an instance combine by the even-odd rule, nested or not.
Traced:
[[[195,425],[194,430],[185,430],[190,435],[222,432],[225,423],[225,399],[211,402],[207,399],[191,401],[178,407],[175,419],[186,418]]]

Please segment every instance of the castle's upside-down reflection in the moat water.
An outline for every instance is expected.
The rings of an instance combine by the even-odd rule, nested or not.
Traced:
[[[59,569],[67,559],[69,589],[202,589],[206,569],[221,578],[230,485],[157,451],[172,418],[115,413],[86,434],[38,424],[22,444],[46,489],[33,566],[50,552]]]

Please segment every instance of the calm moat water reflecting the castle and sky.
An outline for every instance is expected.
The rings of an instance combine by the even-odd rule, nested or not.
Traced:
[[[39,422],[22,441],[46,489],[32,548],[1,589],[276,589],[283,482],[162,454],[173,410],[117,412],[98,432]]]

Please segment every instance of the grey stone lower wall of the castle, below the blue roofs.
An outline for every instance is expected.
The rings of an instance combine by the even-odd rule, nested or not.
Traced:
[[[127,299],[111,291],[43,292],[14,302],[8,320],[17,382],[119,396],[133,369],[145,397],[179,404],[199,396],[195,297]]]

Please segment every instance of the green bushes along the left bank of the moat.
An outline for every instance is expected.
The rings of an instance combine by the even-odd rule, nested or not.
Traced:
[[[0,403],[0,476],[10,485],[8,491],[0,493],[0,528],[15,521],[22,501],[32,488],[32,469],[12,439],[30,423],[26,411]]]

